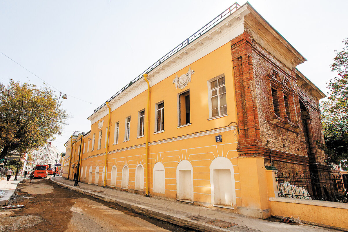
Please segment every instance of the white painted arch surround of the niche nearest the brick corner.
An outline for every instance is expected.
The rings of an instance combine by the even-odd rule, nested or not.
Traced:
[[[233,169],[233,165],[231,161],[223,156],[216,157],[212,163],[209,166],[210,171],[210,191],[211,191],[211,197],[212,197],[212,205],[214,205],[215,199],[214,199],[214,179],[213,179],[213,170],[217,169],[230,169],[231,171],[231,187],[232,187],[232,204],[231,207],[236,205],[236,185],[235,185],[235,173]]]

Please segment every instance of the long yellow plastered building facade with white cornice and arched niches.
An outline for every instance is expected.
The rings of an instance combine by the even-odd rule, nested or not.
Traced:
[[[183,43],[88,117],[90,131],[83,136],[74,133],[65,144],[64,178],[76,178],[80,152],[78,178],[84,183],[260,218],[270,215],[268,158],[237,151],[253,144],[239,144],[239,90],[231,41],[254,35],[266,50],[274,42],[264,31],[256,38],[253,28],[247,27],[259,16],[248,3],[229,10],[215,26]],[[273,28],[264,30],[281,37]],[[302,62],[294,61],[300,55],[282,42],[288,48],[267,51],[292,70]],[[245,132],[250,128],[243,127],[243,136],[252,134]]]

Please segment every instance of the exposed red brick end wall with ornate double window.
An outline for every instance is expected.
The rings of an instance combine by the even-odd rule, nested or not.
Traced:
[[[323,164],[325,155],[314,145],[315,140],[323,140],[318,99],[298,86],[295,67],[285,66],[253,41],[248,33],[231,40],[231,56],[235,74],[239,156],[265,157],[266,165],[270,165],[272,160],[272,165],[284,173],[309,174],[310,163]],[[304,122],[310,134],[309,154],[299,96],[310,115],[310,119]],[[277,102],[273,103],[274,99]]]

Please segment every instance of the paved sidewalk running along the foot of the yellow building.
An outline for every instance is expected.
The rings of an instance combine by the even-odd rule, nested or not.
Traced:
[[[226,213],[220,210],[185,204],[172,200],[145,197],[143,195],[104,188],[97,185],[80,183],[72,186],[74,181],[62,177],[51,177],[54,183],[70,188],[74,191],[85,193],[95,198],[132,209],[137,213],[148,215],[163,221],[180,226],[190,227],[201,231],[240,231],[240,232],[334,232],[338,230],[327,229],[313,225],[289,225],[280,222],[243,216],[235,213]],[[328,215],[329,216],[329,215]],[[216,221],[219,220],[219,221]],[[214,222],[215,221],[215,222]]]

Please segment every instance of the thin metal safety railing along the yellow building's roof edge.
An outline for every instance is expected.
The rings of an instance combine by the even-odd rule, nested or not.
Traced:
[[[166,55],[164,55],[163,57],[161,57],[159,60],[157,60],[153,65],[151,65],[149,68],[147,68],[144,72],[142,72],[139,76],[137,76],[136,78],[134,78],[134,80],[132,80],[131,82],[129,82],[126,86],[124,86],[122,89],[120,89],[117,93],[115,93],[111,98],[109,98],[109,100],[107,101],[111,101],[113,98],[115,98],[118,94],[120,94],[122,91],[124,91],[125,89],[127,89],[130,85],[132,85],[134,82],[136,82],[137,80],[139,80],[140,78],[142,78],[144,76],[144,73],[149,73],[152,69],[156,68],[157,66],[159,66],[161,63],[163,63],[163,61],[165,61],[166,59],[168,59],[169,57],[173,56],[176,52],[180,51],[182,48],[184,48],[185,46],[187,46],[188,44],[190,44],[191,42],[193,42],[194,40],[196,40],[199,36],[203,35],[204,33],[206,33],[207,31],[209,31],[211,28],[213,28],[214,26],[216,26],[216,24],[220,23],[223,19],[227,18],[229,15],[231,15],[232,13],[234,13],[238,8],[240,7],[240,5],[235,2],[232,6],[230,6],[229,8],[227,8],[226,10],[224,10],[220,15],[216,16],[213,20],[211,20],[209,23],[207,23],[205,26],[203,26],[202,28],[200,28],[197,32],[193,33],[193,35],[191,35],[189,38],[185,39],[182,43],[180,43],[179,45],[177,45],[173,50],[169,51]],[[106,101],[99,106],[98,108],[96,108],[94,110],[94,113],[97,112],[98,110],[100,110],[103,106],[106,105]]]

